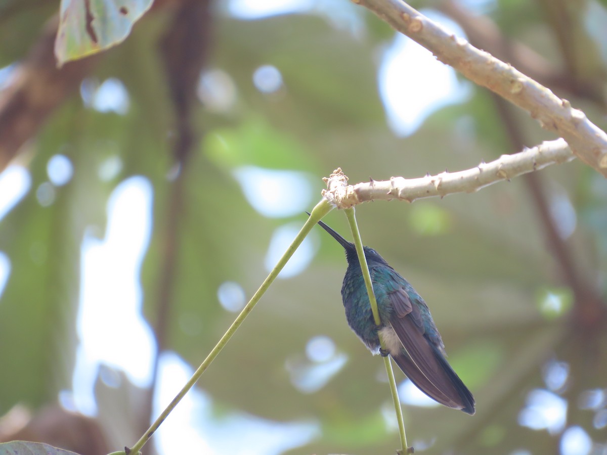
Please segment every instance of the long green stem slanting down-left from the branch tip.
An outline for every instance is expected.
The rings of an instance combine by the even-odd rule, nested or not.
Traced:
[[[263,281],[263,283],[259,287],[259,289],[257,289],[257,292],[253,295],[253,297],[251,297],[251,300],[249,300],[249,303],[247,303],[245,305],[245,308],[242,309],[242,311],[240,312],[238,317],[234,320],[232,325],[229,327],[228,331],[225,332],[225,334],[223,334],[223,336],[221,337],[219,342],[217,342],[217,345],[215,345],[215,347],[212,349],[212,351],[206,357],[204,362],[202,362],[200,364],[200,366],[198,366],[198,369],[194,372],[194,374],[189,379],[189,381],[186,383],[186,385],[183,386],[183,388],[177,394],[177,396],[175,396],[175,398],[172,400],[172,402],[169,403],[168,406],[166,406],[166,409],[164,409],[162,414],[160,414],[160,416],[158,416],[158,419],[156,419],[155,422],[152,423],[152,426],[150,426],[148,431],[146,431],[146,433],[143,436],[141,436],[141,438],[137,441],[137,443],[135,443],[135,445],[129,451],[127,451],[127,453],[131,453],[131,454],[139,453],[139,450],[141,450],[141,448],[144,446],[144,444],[146,442],[148,442],[148,440],[152,437],[152,434],[154,434],[154,432],[156,430],[158,430],[158,427],[161,425],[161,423],[164,421],[164,419],[166,419],[166,417],[169,416],[169,414],[175,408],[175,406],[177,406],[177,403],[179,403],[181,401],[181,399],[185,396],[185,394],[188,393],[189,389],[191,389],[192,386],[194,386],[194,384],[197,382],[197,380],[200,379],[200,376],[202,376],[203,372],[205,372],[206,369],[209,367],[209,365],[211,365],[211,362],[213,360],[215,360],[215,357],[217,357],[219,355],[219,352],[221,352],[221,350],[223,349],[223,346],[225,346],[228,343],[228,341],[232,337],[232,335],[234,335],[236,330],[240,327],[240,325],[243,323],[243,321],[248,316],[248,314],[251,312],[251,310],[253,310],[253,307],[256,305],[256,303],[259,302],[259,299],[262,298],[262,295],[268,290],[268,288],[270,288],[270,285],[276,279],[276,277],[278,276],[280,271],[283,269],[285,264],[287,264],[287,261],[291,258],[291,256],[295,252],[295,250],[302,243],[302,241],[304,240],[306,235],[308,235],[310,233],[310,231],[314,227],[314,224],[316,224],[320,220],[320,218],[327,215],[328,212],[331,211],[331,209],[333,209],[333,206],[331,206],[331,204],[325,199],[322,199],[318,204],[316,204],[316,207],[314,207],[314,209],[312,210],[310,217],[308,218],[308,220],[306,221],[306,223],[304,224],[302,229],[297,234],[297,237],[295,237],[295,240],[293,240],[293,242],[290,244],[287,251],[285,251],[285,254],[282,255],[282,257],[280,258],[280,260],[274,267],[274,269],[272,269],[272,271],[270,272],[268,277],[265,279],[265,281]]]

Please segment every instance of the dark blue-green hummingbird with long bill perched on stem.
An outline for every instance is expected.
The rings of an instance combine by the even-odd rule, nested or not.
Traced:
[[[364,246],[381,319],[381,325],[376,325],[356,247],[327,224],[322,221],[318,224],[345,249],[348,269],[341,294],[353,332],[373,355],[392,356],[402,372],[427,396],[472,416],[474,397],[447,362],[443,339],[424,299],[375,249]],[[379,335],[385,350],[381,349]]]

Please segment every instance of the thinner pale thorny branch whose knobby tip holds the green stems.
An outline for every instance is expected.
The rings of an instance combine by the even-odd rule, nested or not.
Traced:
[[[348,178],[336,169],[325,178],[327,189],[322,195],[338,209],[347,209],[366,201],[400,199],[413,202],[419,198],[453,193],[471,193],[492,183],[510,180],[549,164],[560,164],[575,157],[563,139],[546,141],[539,146],[514,155],[502,155],[490,163],[480,163],[472,169],[442,172],[421,178],[392,177],[390,180],[348,185]]]

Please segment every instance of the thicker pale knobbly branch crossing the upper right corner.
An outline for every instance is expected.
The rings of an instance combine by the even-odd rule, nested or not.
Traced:
[[[477,49],[426,18],[401,0],[354,0],[395,30],[430,50],[470,81],[500,95],[530,113],[545,129],[564,138],[575,155],[607,177],[607,134],[573,109],[566,99]]]

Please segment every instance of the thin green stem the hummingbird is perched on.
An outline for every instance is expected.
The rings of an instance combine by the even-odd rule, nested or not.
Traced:
[[[373,284],[371,283],[371,274],[365,259],[365,251],[362,248],[361,233],[358,231],[358,224],[356,224],[356,214],[354,207],[345,209],[345,216],[348,218],[350,223],[350,230],[352,231],[352,237],[354,238],[354,246],[356,246],[356,252],[358,253],[358,261],[361,264],[362,277],[365,280],[365,286],[367,286],[367,295],[369,296],[369,302],[371,303],[371,312],[373,312],[373,320],[375,325],[381,325],[381,318],[379,318],[378,303],[375,300],[375,293],[373,292]],[[381,336],[379,337],[379,343],[382,349],[385,349],[384,340]],[[392,371],[392,362],[390,357],[384,357],[385,372],[388,374],[388,383],[390,383],[390,391],[392,392],[392,400],[394,402],[394,408],[396,411],[396,420],[398,420],[398,430],[401,436],[401,453],[409,453],[409,446],[407,445],[407,434],[405,434],[405,423],[402,418],[401,402],[398,399],[398,389],[396,388],[396,380],[394,379],[394,371]]]

